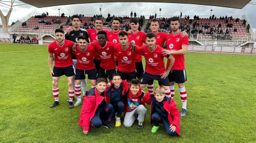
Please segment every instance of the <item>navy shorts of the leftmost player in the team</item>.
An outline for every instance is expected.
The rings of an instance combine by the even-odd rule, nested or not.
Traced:
[[[75,67],[73,65],[63,68],[54,66],[53,71],[54,75],[52,75],[52,77],[61,77],[62,75],[66,75],[66,77],[72,77],[73,75],[75,75]]]

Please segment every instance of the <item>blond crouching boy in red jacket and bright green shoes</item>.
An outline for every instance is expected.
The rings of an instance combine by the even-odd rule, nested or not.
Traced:
[[[146,104],[151,104],[151,132],[157,132],[159,123],[163,123],[170,136],[180,135],[180,112],[173,99],[165,96],[163,87],[155,88],[155,95],[146,93],[145,98]]]

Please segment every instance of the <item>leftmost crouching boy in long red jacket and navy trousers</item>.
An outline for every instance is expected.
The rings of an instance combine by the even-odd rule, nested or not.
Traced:
[[[108,118],[113,110],[113,106],[111,104],[107,104],[105,101],[104,93],[106,87],[106,79],[98,78],[96,81],[96,87],[90,89],[86,92],[86,96],[84,96],[79,125],[83,127],[83,132],[86,135],[89,132],[90,126],[95,129],[101,126],[113,129],[113,126],[108,123]]]

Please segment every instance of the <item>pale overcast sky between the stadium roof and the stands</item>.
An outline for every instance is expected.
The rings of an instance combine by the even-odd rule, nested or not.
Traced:
[[[252,1],[254,2],[254,1]],[[6,2],[5,2],[6,3]],[[8,3],[6,3],[8,4]],[[9,3],[10,4],[10,3]],[[213,10],[212,14],[216,16],[233,16],[236,18],[238,16],[246,15],[247,19],[251,23],[252,28],[256,28],[256,5],[246,5],[242,10],[235,8],[223,8],[223,7],[213,7],[205,5],[192,5],[192,4],[171,4],[171,3],[150,3],[150,2],[111,2],[111,3],[95,3],[95,4],[74,4],[74,5],[62,5],[47,8],[36,8],[31,5],[22,5],[18,7],[13,7],[11,17],[9,20],[9,25],[16,20],[20,20],[27,16],[31,12],[43,13],[48,11],[49,14],[58,14],[58,8],[60,8],[60,13],[67,14],[99,14],[99,7],[102,5],[102,15],[110,13],[111,15],[130,15],[131,11],[136,11],[137,15],[145,15],[148,19],[150,14],[157,13],[157,17],[160,15],[159,8],[162,9],[162,16],[178,16],[180,12],[183,12],[183,16],[189,15],[193,17],[196,15],[200,16],[210,16],[210,10]],[[5,15],[8,13],[8,8],[1,7],[2,13]],[[2,23],[2,22],[0,22]]]

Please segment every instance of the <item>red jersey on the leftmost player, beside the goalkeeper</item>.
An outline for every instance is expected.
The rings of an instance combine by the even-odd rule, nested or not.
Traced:
[[[54,54],[54,66],[63,68],[73,65],[71,49],[75,43],[64,39],[63,45],[58,45],[56,41],[48,45],[49,54]]]

